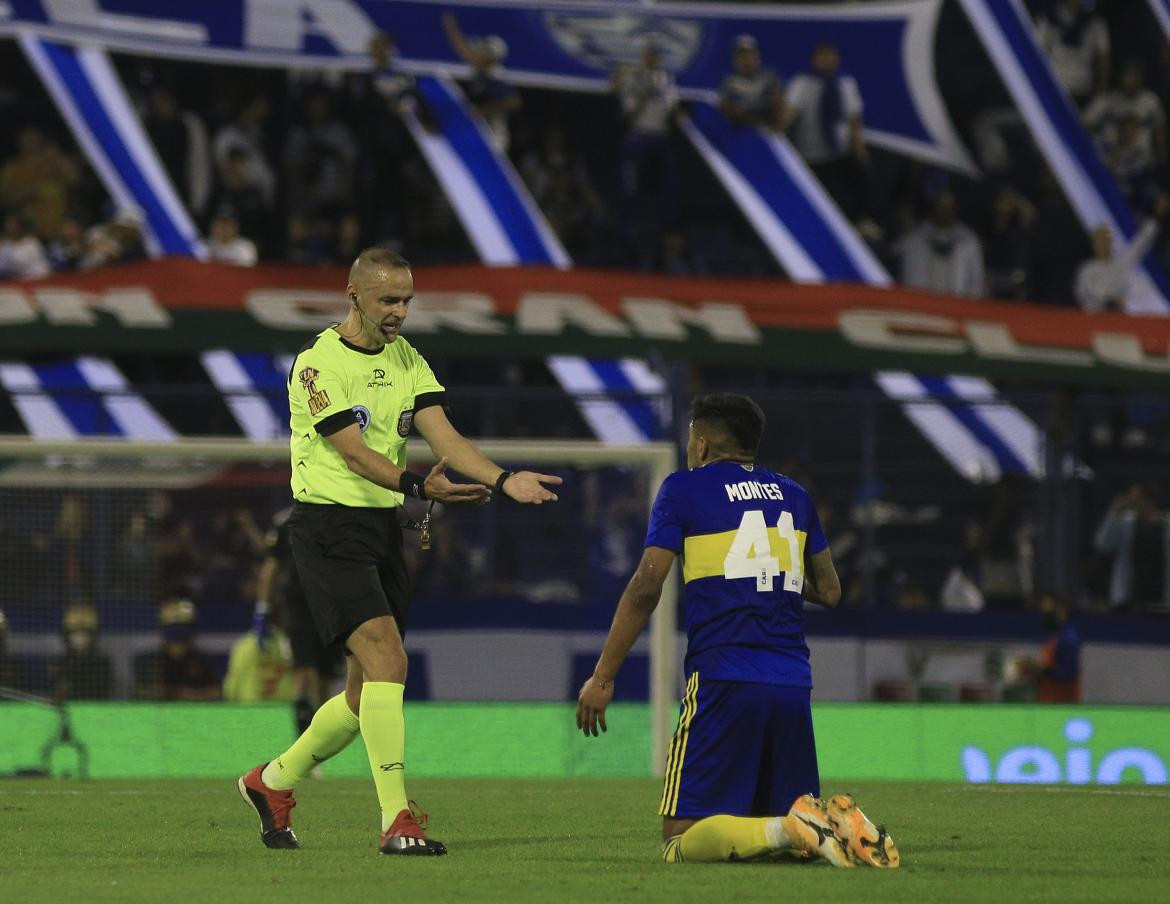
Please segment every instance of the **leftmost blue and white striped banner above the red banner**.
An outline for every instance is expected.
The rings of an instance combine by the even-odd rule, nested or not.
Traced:
[[[105,50],[76,49],[27,33],[19,39],[115,203],[140,212],[151,256],[202,257],[199,233]]]

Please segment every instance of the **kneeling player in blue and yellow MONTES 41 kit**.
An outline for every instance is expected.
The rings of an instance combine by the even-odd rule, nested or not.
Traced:
[[[841,585],[812,499],[755,463],[764,413],[751,399],[704,395],[690,414],[689,470],[659,490],[577,726],[606,730],[618,669],[681,553],[687,691],[659,806],[663,858],[794,850],[835,867],[896,867],[894,842],[849,795],[820,799],[803,605],[837,606]]]

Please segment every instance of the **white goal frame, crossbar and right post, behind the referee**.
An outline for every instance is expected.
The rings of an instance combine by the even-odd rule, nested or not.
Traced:
[[[607,446],[587,440],[473,440],[489,458],[503,464],[525,467],[567,465],[579,468],[639,467],[648,478],[647,513],[658,488],[676,469],[676,449],[668,442],[631,446]],[[138,485],[156,485],[174,469],[150,474],[150,464],[184,462],[213,468],[216,463],[287,464],[287,442],[250,442],[247,440],[198,437],[176,442],[126,441],[119,439],[84,439],[69,441],[36,440],[27,436],[0,436],[0,489],[37,486],[28,467],[48,463],[54,471],[54,486],[96,489],[121,486],[126,481]],[[434,461],[424,443],[407,447],[407,462],[425,465]],[[74,465],[70,465],[75,463]],[[23,465],[23,469],[22,469]],[[138,467],[136,467],[138,465]],[[193,468],[198,470],[198,467]],[[532,512],[535,518],[539,512]],[[584,551],[583,551],[584,554]],[[649,711],[652,775],[660,777],[666,751],[674,729],[679,692],[679,647],[676,640],[679,574],[668,577],[662,598],[651,619]],[[612,601],[613,605],[617,600]]]

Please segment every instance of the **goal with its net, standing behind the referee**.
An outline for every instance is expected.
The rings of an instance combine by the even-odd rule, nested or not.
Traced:
[[[675,469],[675,449],[476,444],[504,467],[560,475],[560,502],[436,506],[425,551],[419,531],[404,531],[414,584],[407,696],[574,699],[638,561],[654,494]],[[425,443],[413,443],[410,465],[421,472],[432,463]],[[288,484],[288,447],[278,442],[0,437],[0,708],[39,712],[25,717],[37,737],[0,757],[0,773],[70,755],[84,762],[84,751],[58,747],[62,734],[84,740],[78,719],[88,703],[137,701],[135,712],[165,719],[164,701],[222,697],[234,647],[269,630],[254,610],[257,580],[273,525],[290,504]],[[426,504],[412,501],[402,520],[425,513]],[[672,578],[619,682],[620,697],[651,704],[652,774],[662,770],[681,690],[676,605]],[[269,620],[278,640],[278,603]],[[166,660],[180,635],[209,664],[206,693],[198,682],[180,693],[170,683],[186,668]],[[288,699],[288,682],[270,677],[264,698]],[[76,731],[60,702],[81,713]]]

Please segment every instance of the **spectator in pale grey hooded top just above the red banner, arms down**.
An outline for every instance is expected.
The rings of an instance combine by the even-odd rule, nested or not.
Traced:
[[[930,218],[901,241],[902,283],[948,295],[976,297],[986,292],[983,248],[958,219],[955,195],[935,195]]]

